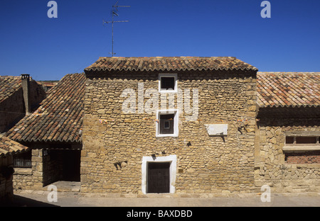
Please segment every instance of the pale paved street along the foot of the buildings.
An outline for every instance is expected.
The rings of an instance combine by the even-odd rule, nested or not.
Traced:
[[[48,202],[48,193],[15,193],[16,206],[60,207],[319,207],[320,193],[274,193],[263,203],[260,195],[239,194],[212,198],[109,198],[75,192],[58,193],[57,202]]]

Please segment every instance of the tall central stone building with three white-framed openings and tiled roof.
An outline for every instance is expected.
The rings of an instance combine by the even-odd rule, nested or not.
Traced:
[[[255,67],[235,57],[102,57],[85,74],[82,192],[254,190]]]

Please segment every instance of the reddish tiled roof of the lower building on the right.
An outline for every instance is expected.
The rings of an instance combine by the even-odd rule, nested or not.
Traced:
[[[320,106],[320,72],[257,72],[260,107]]]

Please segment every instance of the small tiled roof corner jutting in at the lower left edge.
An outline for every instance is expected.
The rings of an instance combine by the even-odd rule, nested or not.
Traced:
[[[28,149],[28,147],[0,135],[0,157],[5,157],[9,154],[18,154],[26,151],[26,149]]]

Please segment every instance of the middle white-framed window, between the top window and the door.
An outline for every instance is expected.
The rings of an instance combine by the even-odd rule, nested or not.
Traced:
[[[178,137],[178,110],[158,110],[156,118],[156,137]]]

